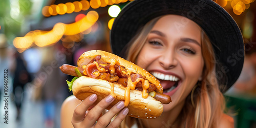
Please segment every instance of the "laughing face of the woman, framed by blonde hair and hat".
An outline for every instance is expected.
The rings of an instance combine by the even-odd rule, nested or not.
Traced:
[[[184,103],[202,75],[201,28],[183,16],[161,17],[148,34],[137,65],[158,78],[164,94],[172,97],[164,111]]]

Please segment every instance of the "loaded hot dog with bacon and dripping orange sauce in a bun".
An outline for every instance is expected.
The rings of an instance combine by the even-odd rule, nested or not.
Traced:
[[[77,65],[63,65],[60,70],[76,76],[68,84],[80,100],[95,93],[98,95],[97,103],[112,95],[115,101],[106,109],[124,100],[130,116],[144,119],[160,116],[162,103],[172,101],[168,95],[162,94],[163,88],[152,74],[112,53],[100,50],[84,52]]]

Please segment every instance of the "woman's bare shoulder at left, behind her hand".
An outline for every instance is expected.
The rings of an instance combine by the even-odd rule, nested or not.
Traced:
[[[76,106],[81,103],[74,95],[69,96],[61,105],[60,110],[60,126],[61,128],[73,127],[71,119],[73,117]]]

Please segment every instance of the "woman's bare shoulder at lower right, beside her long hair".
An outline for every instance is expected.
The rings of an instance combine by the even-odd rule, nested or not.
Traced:
[[[218,127],[220,128],[234,127],[234,119],[231,116],[228,116],[227,114],[222,114]]]

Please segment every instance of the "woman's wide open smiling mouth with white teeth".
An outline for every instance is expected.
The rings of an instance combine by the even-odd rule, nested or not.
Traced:
[[[159,80],[164,80],[166,82],[168,82],[168,86],[164,87],[163,93],[168,93],[170,91],[173,91],[179,83],[179,78],[173,75],[165,75],[162,73],[158,73],[158,72],[152,72],[152,75],[154,75],[157,79]],[[161,82],[160,81],[160,82]]]

